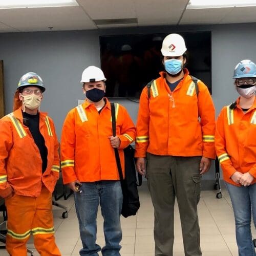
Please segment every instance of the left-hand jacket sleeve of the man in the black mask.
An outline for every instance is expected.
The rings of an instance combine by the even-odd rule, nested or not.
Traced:
[[[77,180],[75,163],[75,110],[68,113],[62,127],[60,141],[60,167],[62,171],[63,183],[67,184]]]

